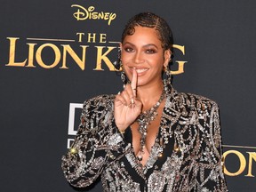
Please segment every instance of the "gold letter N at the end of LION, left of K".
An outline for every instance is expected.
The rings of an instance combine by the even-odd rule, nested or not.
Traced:
[[[84,68],[85,68],[86,48],[89,47],[89,46],[88,45],[81,45],[81,47],[83,48],[82,60],[79,59],[76,52],[74,52],[74,50],[70,47],[69,44],[61,44],[61,46],[63,47],[63,62],[62,62],[62,67],[61,68],[67,68],[66,59],[67,59],[67,52],[68,52],[69,55],[73,58],[73,60],[76,61],[76,64],[79,66],[79,68],[84,70]]]

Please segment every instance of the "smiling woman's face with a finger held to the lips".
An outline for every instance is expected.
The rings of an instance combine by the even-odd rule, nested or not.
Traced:
[[[121,59],[126,76],[132,80],[132,68],[138,74],[138,86],[161,84],[163,67],[168,65],[171,51],[164,51],[155,28],[135,27],[132,36],[121,44]]]

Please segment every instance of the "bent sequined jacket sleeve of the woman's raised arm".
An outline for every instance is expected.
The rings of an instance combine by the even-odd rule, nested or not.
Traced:
[[[76,188],[91,185],[130,147],[116,128],[112,103],[100,96],[84,102],[76,139],[61,164],[66,179]]]

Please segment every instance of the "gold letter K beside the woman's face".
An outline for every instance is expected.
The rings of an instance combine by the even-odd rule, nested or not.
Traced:
[[[96,68],[94,68],[93,70],[103,70],[101,60],[104,60],[105,63],[107,64],[109,70],[115,71],[116,69],[115,69],[114,65],[112,64],[112,62],[108,59],[107,55],[109,52],[114,50],[116,47],[108,46],[108,51],[105,52],[104,54],[102,54],[102,50],[103,50],[103,48],[106,48],[105,46],[95,46],[95,47],[97,48],[97,64],[96,64]]]

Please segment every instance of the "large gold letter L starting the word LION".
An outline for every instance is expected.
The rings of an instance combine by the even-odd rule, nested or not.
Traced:
[[[5,66],[15,66],[15,67],[24,67],[27,60],[23,62],[15,62],[15,52],[16,52],[16,41],[20,39],[18,37],[7,37],[10,40],[10,52],[9,52],[9,62]]]

